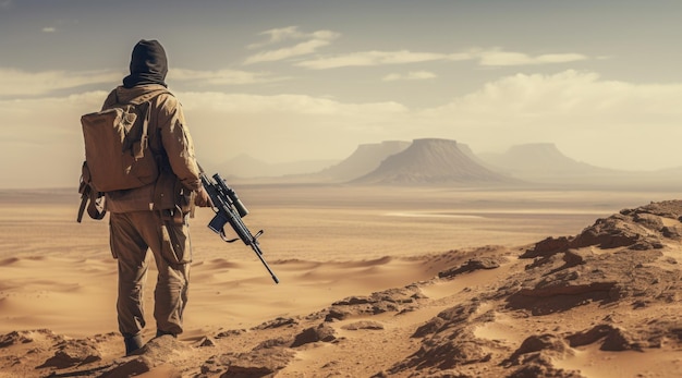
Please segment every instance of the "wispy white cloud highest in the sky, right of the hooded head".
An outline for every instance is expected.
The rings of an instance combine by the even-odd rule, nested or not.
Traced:
[[[303,39],[303,41],[297,42],[293,46],[258,52],[246,58],[244,64],[272,62],[301,56],[307,56],[314,53],[319,48],[328,46],[329,44],[331,44],[332,40],[337,39],[340,36],[340,34],[330,31],[301,33],[299,32],[299,28],[296,26],[290,26],[280,29],[270,29],[261,34],[268,35],[270,38],[261,44],[249,45],[249,48],[259,48],[272,44],[289,41],[291,39]]]

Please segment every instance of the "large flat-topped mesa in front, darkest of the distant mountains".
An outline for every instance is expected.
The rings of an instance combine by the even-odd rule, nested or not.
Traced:
[[[370,173],[356,179],[362,184],[501,184],[515,182],[470,157],[468,147],[455,141],[415,139],[402,153],[388,157]]]

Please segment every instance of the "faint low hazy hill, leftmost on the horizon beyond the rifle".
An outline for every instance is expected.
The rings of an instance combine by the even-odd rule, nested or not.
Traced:
[[[222,164],[223,175],[236,178],[277,178],[290,174],[317,172],[336,163],[337,160],[305,160],[282,163],[267,163],[248,155],[239,155]]]

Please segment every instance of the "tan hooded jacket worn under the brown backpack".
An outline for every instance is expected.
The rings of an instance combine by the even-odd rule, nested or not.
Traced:
[[[161,85],[119,86],[102,106],[110,109],[134,98],[165,89]],[[170,93],[158,95],[150,102],[149,145],[159,161],[159,179],[151,184],[132,190],[108,192],[106,206],[111,212],[172,209],[180,206],[188,211],[194,192],[202,186],[199,169],[194,156],[194,143],[185,124],[180,101]]]

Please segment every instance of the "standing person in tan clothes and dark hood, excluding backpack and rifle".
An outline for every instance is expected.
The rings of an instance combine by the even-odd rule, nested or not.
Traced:
[[[168,92],[168,62],[157,40],[141,40],[132,52],[130,75],[102,106],[110,109],[135,99],[149,99],[149,148],[159,178],[145,186],[106,193],[110,214],[111,253],[119,264],[119,330],[130,355],[143,346],[143,306],[148,249],[158,268],[154,318],[157,337],[182,333],[187,303],[192,251],[187,217],[193,205],[208,206],[192,137],[178,99]]]

